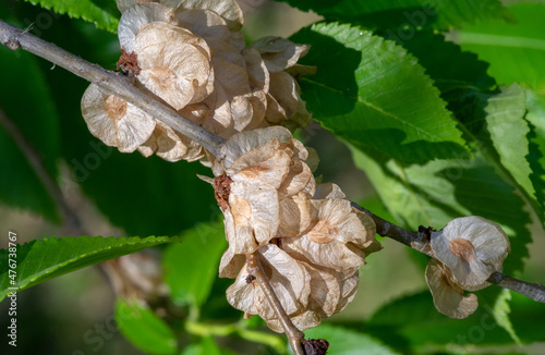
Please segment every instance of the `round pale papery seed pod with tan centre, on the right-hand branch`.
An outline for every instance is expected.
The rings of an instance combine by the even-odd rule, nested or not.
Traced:
[[[486,280],[501,271],[510,252],[504,230],[475,216],[453,219],[441,231],[433,232],[431,245],[435,257],[452,270],[453,280],[469,291],[487,286]]]

